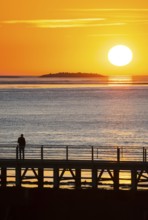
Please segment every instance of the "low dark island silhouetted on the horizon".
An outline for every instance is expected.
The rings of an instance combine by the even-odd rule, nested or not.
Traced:
[[[81,73],[81,72],[77,72],[77,73],[70,73],[70,72],[59,72],[59,73],[49,73],[49,74],[45,74],[42,75],[41,77],[101,77],[104,78],[106,76],[103,76],[101,74],[98,73]]]

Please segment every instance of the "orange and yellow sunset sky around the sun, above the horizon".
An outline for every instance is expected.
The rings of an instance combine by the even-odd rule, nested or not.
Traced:
[[[126,66],[108,61],[118,44],[133,52]],[[0,75],[148,75],[147,51],[145,0],[1,1]]]

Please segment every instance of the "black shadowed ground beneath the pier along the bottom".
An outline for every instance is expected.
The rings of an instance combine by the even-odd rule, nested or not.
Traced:
[[[148,191],[0,190],[1,220],[148,220]]]

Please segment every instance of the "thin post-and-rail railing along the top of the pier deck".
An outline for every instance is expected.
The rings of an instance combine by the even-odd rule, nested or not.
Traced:
[[[25,159],[31,160],[90,160],[147,161],[147,147],[129,146],[34,146],[25,147]],[[0,159],[19,159],[19,148],[0,145]]]

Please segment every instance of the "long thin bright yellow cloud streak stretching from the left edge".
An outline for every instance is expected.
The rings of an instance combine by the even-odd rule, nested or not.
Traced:
[[[5,25],[27,25],[37,28],[77,28],[98,26],[120,26],[124,22],[106,22],[106,18],[80,18],[80,19],[47,19],[47,20],[8,20],[2,21]]]

